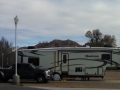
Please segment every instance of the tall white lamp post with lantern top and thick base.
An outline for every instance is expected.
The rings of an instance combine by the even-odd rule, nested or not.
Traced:
[[[20,77],[17,74],[17,24],[18,24],[18,17],[14,18],[15,22],[15,75],[13,76],[13,83],[18,85],[20,83]]]

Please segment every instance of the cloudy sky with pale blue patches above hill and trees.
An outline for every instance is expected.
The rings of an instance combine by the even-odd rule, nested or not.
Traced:
[[[115,35],[120,46],[120,0],[0,0],[0,36],[31,46],[54,39],[71,39],[84,45],[88,30]]]

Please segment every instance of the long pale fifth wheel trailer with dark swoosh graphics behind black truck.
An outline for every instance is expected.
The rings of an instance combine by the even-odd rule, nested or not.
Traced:
[[[120,49],[111,47],[57,47],[22,49],[19,63],[33,63],[51,69],[54,80],[62,77],[101,77],[106,67],[120,67]]]

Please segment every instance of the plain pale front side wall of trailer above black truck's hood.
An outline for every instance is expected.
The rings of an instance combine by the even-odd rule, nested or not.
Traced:
[[[23,63],[28,63],[30,58],[39,58],[38,66],[54,69],[55,51],[37,51],[34,53],[31,53],[31,51],[22,51],[22,53]],[[18,55],[18,62],[21,62],[20,55]]]

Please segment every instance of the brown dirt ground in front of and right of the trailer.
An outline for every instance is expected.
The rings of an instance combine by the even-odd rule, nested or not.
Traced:
[[[37,86],[37,87],[59,87],[59,88],[112,88],[120,89],[120,70],[106,71],[105,77],[90,78],[90,81],[69,80],[63,81],[49,81],[46,84],[38,83],[22,83],[24,86]]]

